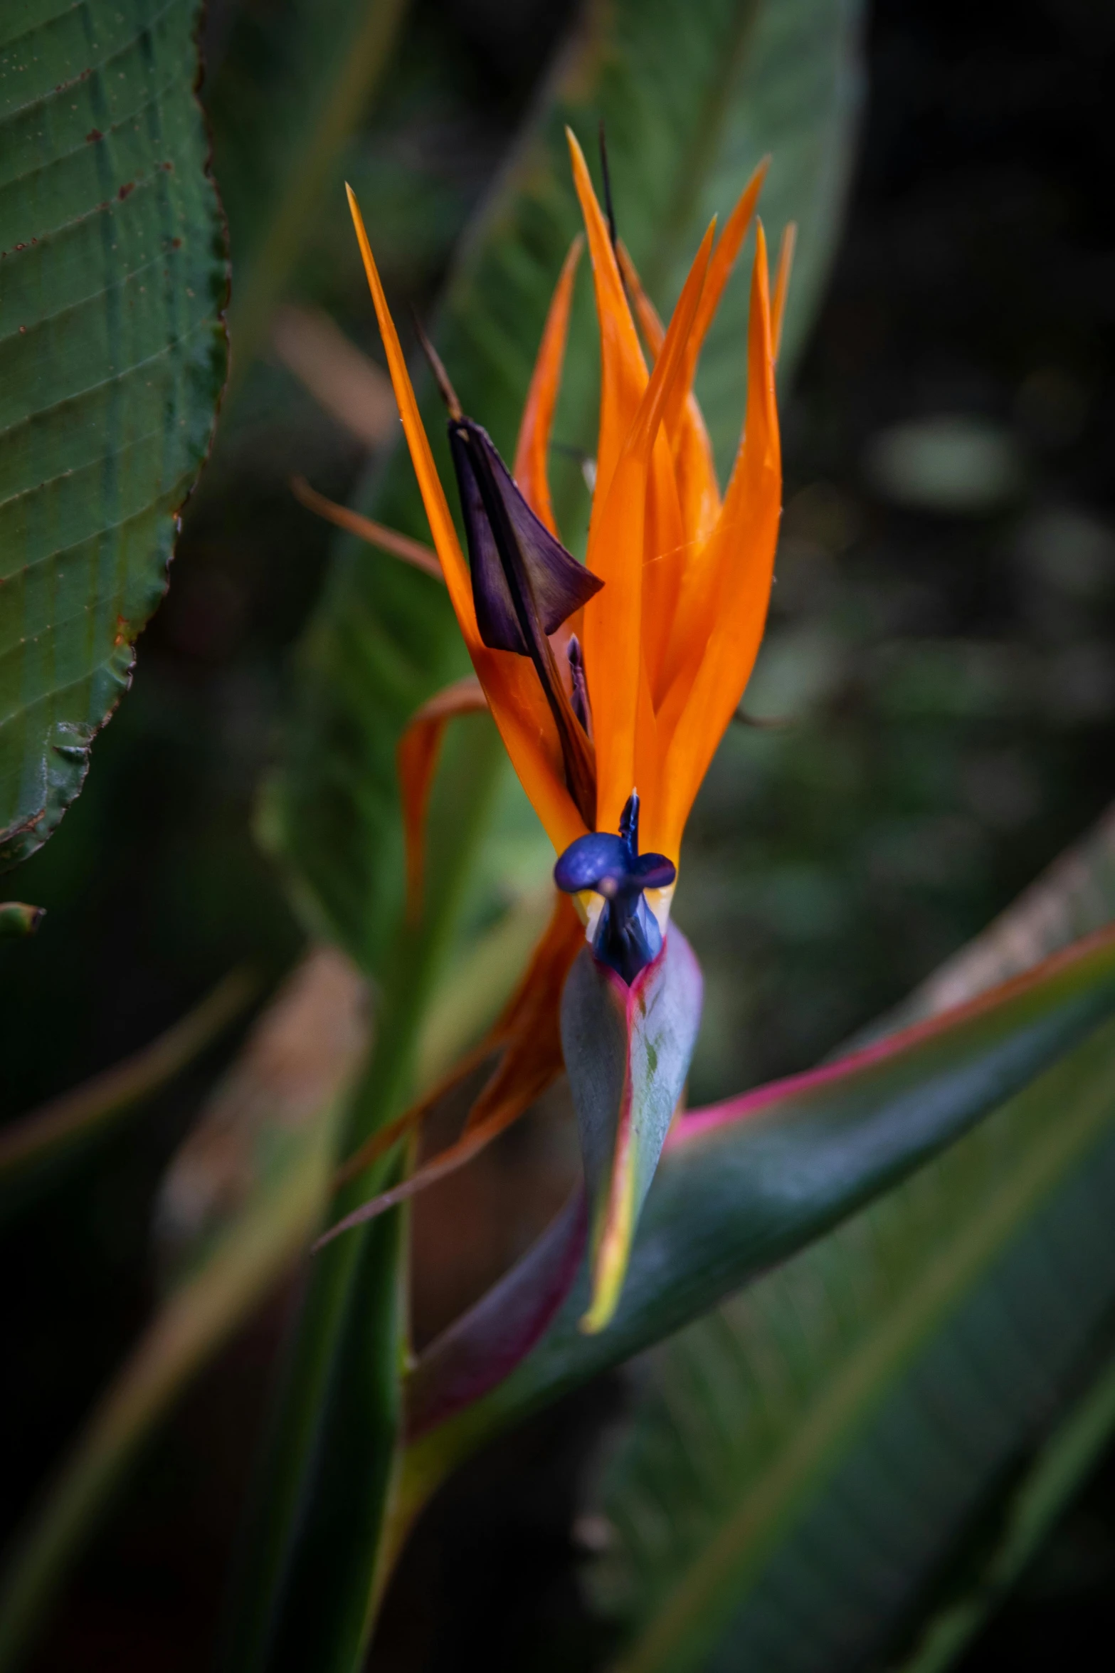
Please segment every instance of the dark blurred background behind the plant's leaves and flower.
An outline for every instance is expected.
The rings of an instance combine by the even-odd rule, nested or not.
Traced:
[[[420,306],[570,10],[415,5],[354,149],[369,219],[378,182],[389,288]],[[236,7],[212,10],[216,69],[236,25]],[[873,7],[848,223],[784,403],[776,654],[756,701],[796,724],[731,736],[679,898],[712,990],[699,1096],[829,1049],[1110,800],[1113,49],[1115,8],[1087,0]],[[374,355],[353,271],[308,258],[296,291]],[[933,425],[956,417],[986,455],[963,509],[933,453]],[[286,478],[343,499],[363,463],[277,366],[227,413],[134,689],[59,835],[12,880],[48,917],[0,947],[5,1116],[150,1039],[237,960],[274,980],[294,959],[301,932],[251,836],[328,554]],[[234,1046],[2,1228],[5,1531],[149,1317],[157,1181]],[[149,1449],[37,1673],[209,1665],[288,1305],[261,1312]],[[607,1633],[580,1599],[572,1529],[620,1400],[590,1390],[451,1486],[400,1573],[379,1666],[590,1665]],[[965,1666],[1107,1668],[1113,1633],[1108,1459]]]

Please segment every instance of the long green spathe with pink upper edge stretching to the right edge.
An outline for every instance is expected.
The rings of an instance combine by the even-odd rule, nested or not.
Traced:
[[[400,1531],[491,1434],[786,1260],[960,1138],[1112,1012],[1115,929],[1105,929],[839,1062],[684,1118],[649,1191],[607,1330],[578,1328],[590,1275],[583,1260],[573,1273],[583,1218],[578,1230],[570,1205],[420,1358],[408,1379]]]

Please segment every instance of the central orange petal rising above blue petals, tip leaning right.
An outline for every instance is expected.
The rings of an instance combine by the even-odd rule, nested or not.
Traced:
[[[662,412],[684,373],[685,343],[712,249],[710,226],[665,333],[647,390],[612,473],[603,512],[588,530],[588,567],[603,591],[585,611],[585,671],[597,738],[597,830],[617,830],[635,783],[635,713],[642,679],[644,530],[647,472]],[[598,494],[598,490],[597,490]]]

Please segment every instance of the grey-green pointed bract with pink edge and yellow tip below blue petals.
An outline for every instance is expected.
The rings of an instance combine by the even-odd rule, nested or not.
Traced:
[[[565,982],[562,1051],[590,1205],[592,1297],[582,1330],[603,1330],[619,1305],[697,1044],[702,994],[700,965],[674,925],[630,987],[590,947]]]

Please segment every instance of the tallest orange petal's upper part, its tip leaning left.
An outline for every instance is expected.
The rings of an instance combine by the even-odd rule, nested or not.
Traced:
[[[647,365],[639,348],[639,335],[632,320],[608,228],[592,189],[583,152],[570,129],[565,129],[570,157],[573,159],[573,184],[585,217],[592,281],[597,294],[597,320],[600,321],[600,432],[597,438],[597,490],[593,517],[603,504],[615,462],[647,388]]]

